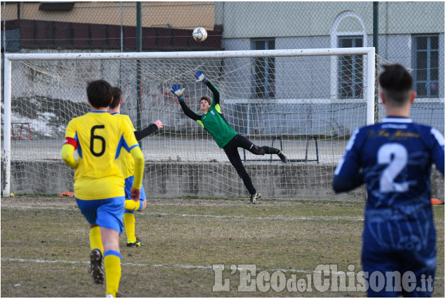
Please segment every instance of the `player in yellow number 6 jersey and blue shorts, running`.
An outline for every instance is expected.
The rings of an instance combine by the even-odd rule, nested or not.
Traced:
[[[74,197],[90,224],[90,270],[96,284],[103,284],[107,297],[116,297],[121,279],[119,235],[124,214],[124,176],[116,161],[121,151],[129,151],[135,161],[131,198],[140,198],[144,158],[129,125],[107,113],[112,87],[104,80],[88,83],[91,112],[70,121],[65,133],[62,158],[76,170]],[[77,150],[79,161],[74,159]]]

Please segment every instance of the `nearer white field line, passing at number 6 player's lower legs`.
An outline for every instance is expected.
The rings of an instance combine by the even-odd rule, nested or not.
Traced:
[[[8,262],[37,262],[37,263],[55,263],[55,262],[61,262],[65,264],[86,264],[89,265],[90,262],[82,262],[77,260],[25,260],[22,258],[12,258],[12,257],[1,257],[1,260],[8,261]],[[160,268],[181,268],[181,269],[212,269],[212,266],[201,266],[201,265],[162,265],[162,264],[138,264],[134,262],[122,262],[122,266],[136,266],[136,267],[160,267]],[[234,268],[225,267],[225,269],[233,270]],[[237,267],[237,270],[247,269],[244,267]],[[293,272],[293,273],[321,273],[320,271],[314,271],[314,270],[302,270],[302,269],[265,269],[262,271],[266,271],[269,273],[273,273],[276,271],[280,272]],[[346,272],[343,271],[330,271],[332,274],[345,274]],[[445,277],[435,277],[435,279],[444,280]]]

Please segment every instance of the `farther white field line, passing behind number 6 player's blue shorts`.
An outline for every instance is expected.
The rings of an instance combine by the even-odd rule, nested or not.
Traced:
[[[6,207],[9,208],[9,207]],[[14,207],[15,210],[77,210],[77,207]],[[174,216],[174,217],[203,217],[203,218],[221,218],[221,219],[247,219],[247,220],[346,220],[346,221],[364,221],[363,217],[332,217],[332,216],[312,216],[312,217],[285,217],[285,216],[237,216],[237,215],[206,215],[206,214],[185,214],[185,213],[166,213],[166,212],[140,212],[141,215],[155,216]]]

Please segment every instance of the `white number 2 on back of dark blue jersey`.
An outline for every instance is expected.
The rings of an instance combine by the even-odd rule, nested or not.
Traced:
[[[409,184],[394,182],[407,165],[407,155],[407,149],[402,144],[383,144],[378,149],[378,164],[388,164],[379,178],[380,192],[406,192],[409,190]]]

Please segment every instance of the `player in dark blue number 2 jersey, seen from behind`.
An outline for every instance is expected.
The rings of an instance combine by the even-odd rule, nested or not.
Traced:
[[[431,297],[437,262],[431,165],[444,176],[445,139],[409,118],[416,93],[407,70],[383,68],[386,118],[355,130],[334,171],[333,188],[339,193],[367,186],[361,259],[368,295]],[[380,284],[371,276],[384,279]]]

